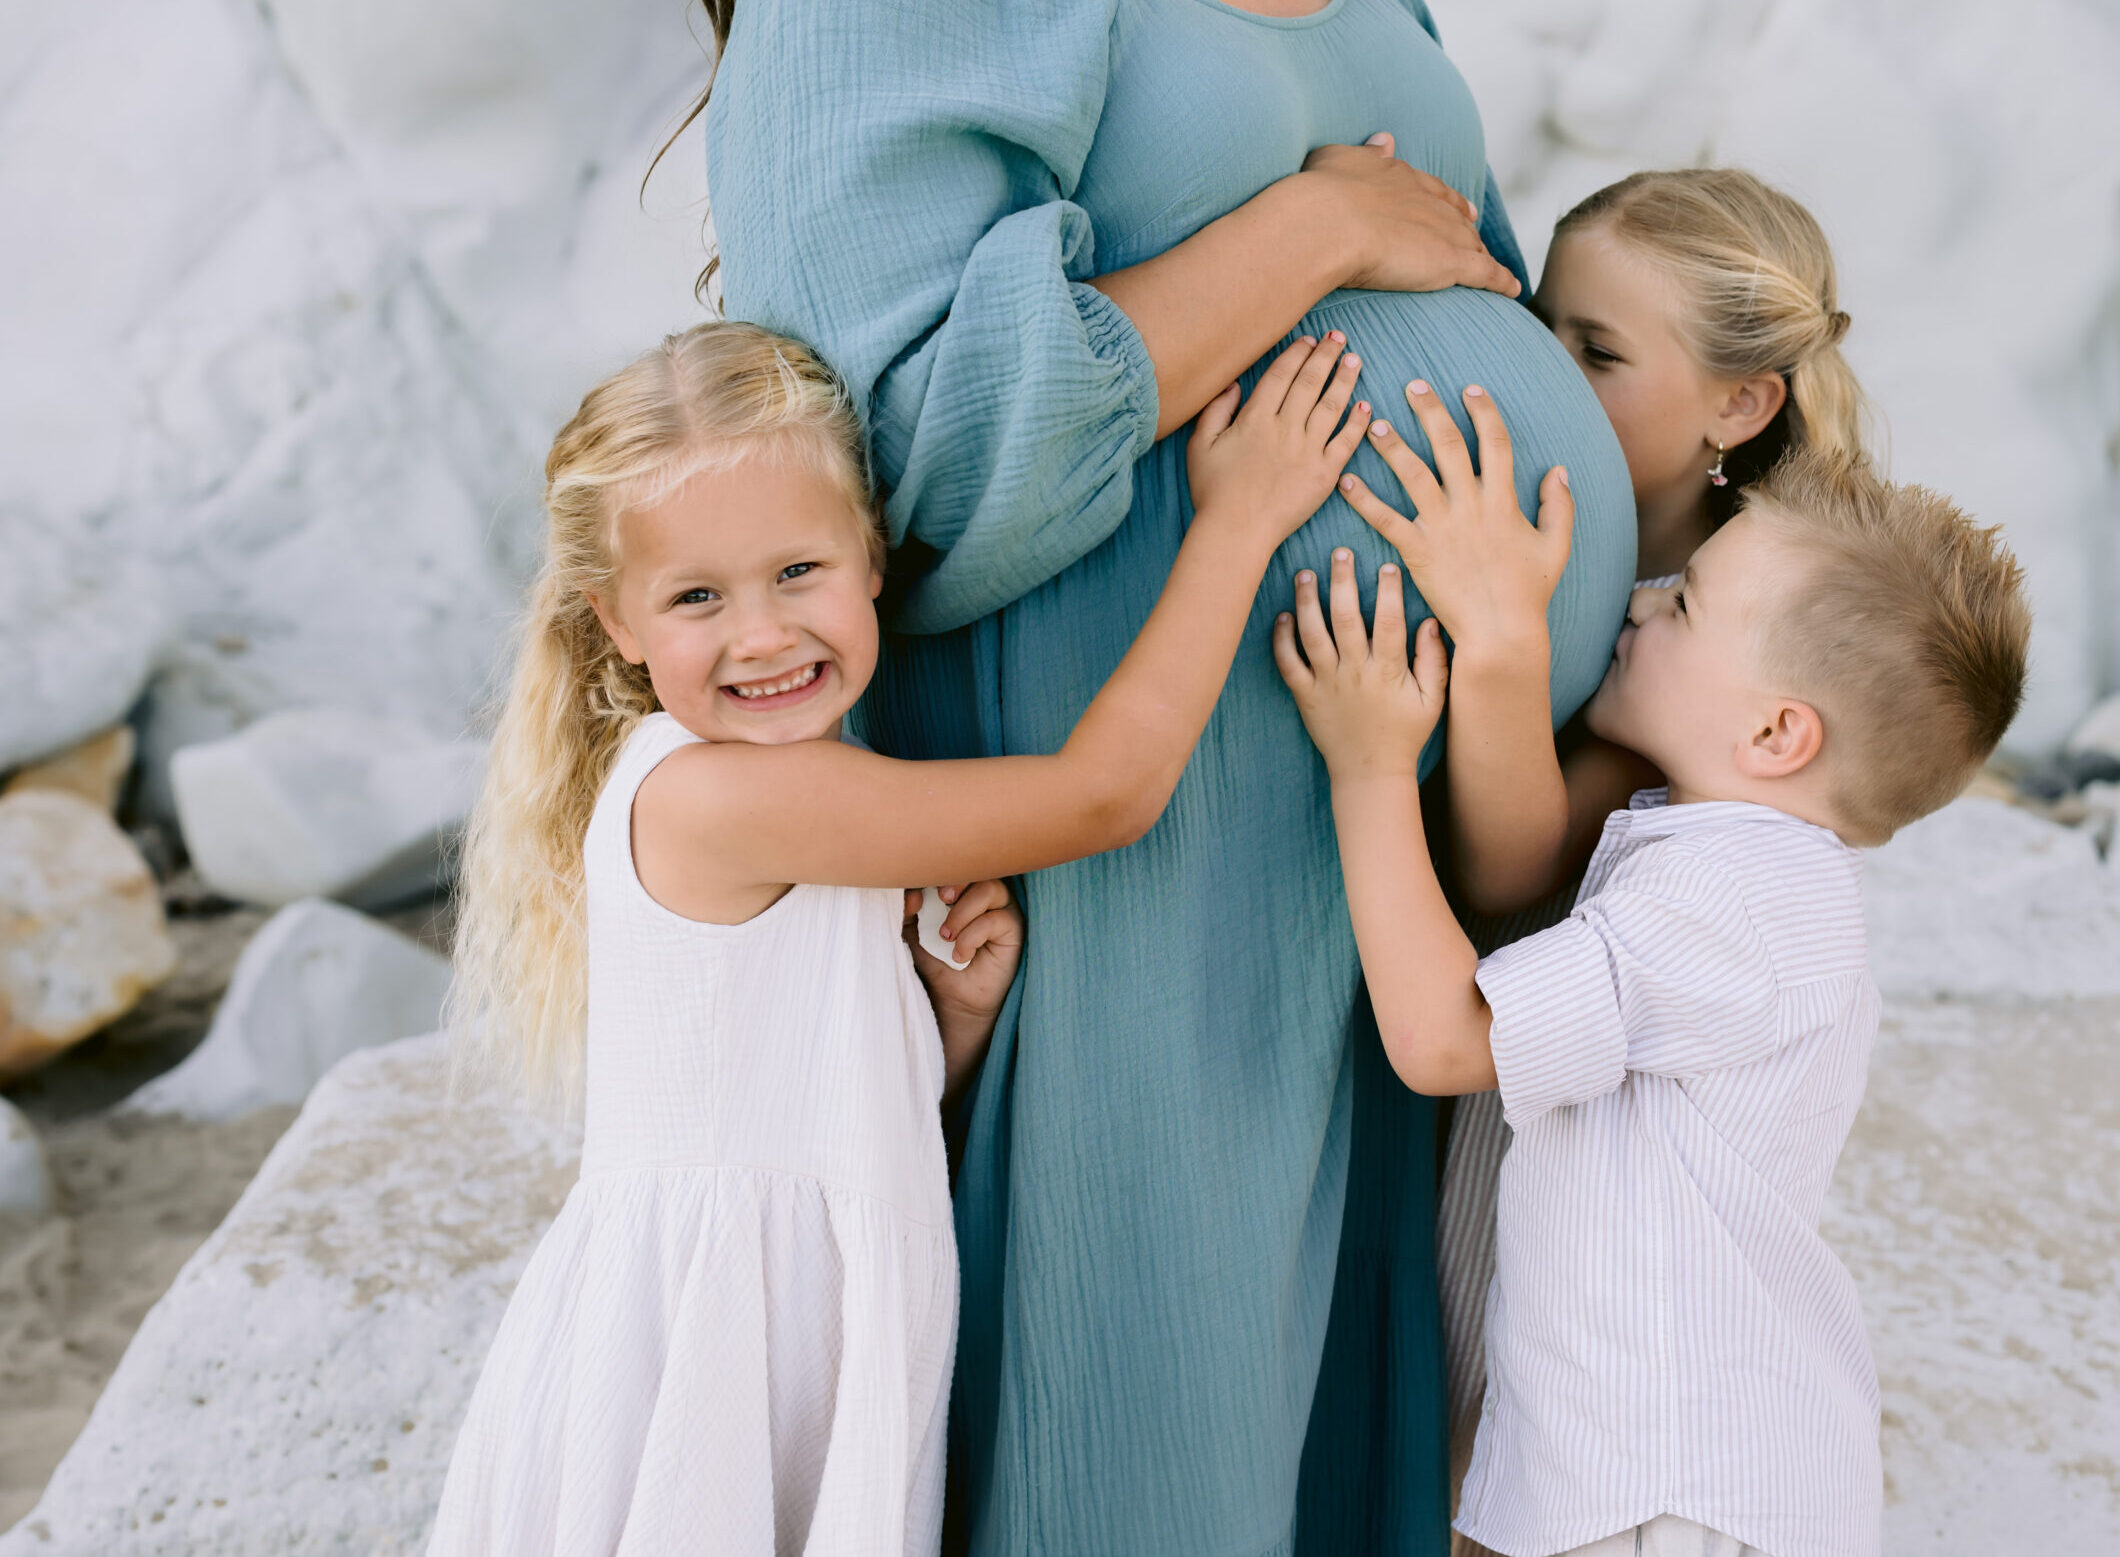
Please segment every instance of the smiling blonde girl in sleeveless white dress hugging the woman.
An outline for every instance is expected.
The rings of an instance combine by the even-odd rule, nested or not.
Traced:
[[[1162,598],[1054,755],[842,740],[878,655],[863,428],[803,346],[672,335],[545,465],[547,558],[473,819],[456,1025],[579,1095],[430,1553],[933,1553],[956,1339],[937,1103],[1022,948],[996,878],[1162,815],[1274,549],[1367,405],[1302,339],[1191,439]],[[1344,418],[1344,426],[1342,426]],[[946,889],[965,972],[907,950]]]

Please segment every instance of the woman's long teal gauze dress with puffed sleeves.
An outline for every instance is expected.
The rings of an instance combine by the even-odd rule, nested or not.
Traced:
[[[1293,21],[1215,0],[736,6],[706,115],[727,310],[818,346],[867,407],[895,543],[865,706],[886,751],[1056,751],[1177,554],[1185,435],[1155,439],[1141,335],[1083,278],[1378,129],[1482,202],[1520,267],[1418,0]],[[1582,373],[1495,293],[1336,293],[1300,329],[1331,327],[1380,405],[1414,375],[1450,401],[1486,384],[1526,511],[1567,462],[1565,717],[1635,564]],[[1367,450],[1357,469],[1391,490]],[[1291,575],[1333,545],[1374,588],[1386,554],[1336,496],[1274,558],[1155,829],[1022,882],[1028,957],[962,1120],[952,1549],[1448,1546],[1435,1109],[1382,1061],[1325,770],[1268,651]]]

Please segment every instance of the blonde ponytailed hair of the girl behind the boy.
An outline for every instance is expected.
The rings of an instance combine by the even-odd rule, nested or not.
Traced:
[[[1840,354],[1849,316],[1834,250],[1808,210],[1738,168],[1683,168],[1596,191],[1560,218],[1554,238],[1590,225],[1671,276],[1700,367],[1717,378],[1781,373],[1789,386],[1774,420],[1730,450],[1730,486],[1709,492],[1717,522],[1783,454],[1866,456],[1868,405]]]

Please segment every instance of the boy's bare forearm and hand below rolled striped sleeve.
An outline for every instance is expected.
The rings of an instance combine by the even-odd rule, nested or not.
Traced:
[[[1450,675],[1442,632],[1423,622],[1408,662],[1406,607],[1386,564],[1372,645],[1355,560],[1333,552],[1331,628],[1317,579],[1297,575],[1295,615],[1274,624],[1274,660],[1331,774],[1346,906],[1391,1067],[1416,1092],[1486,1092],[1495,1052],[1492,1012],[1473,982],[1480,957],[1444,902],[1420,829],[1420,747]]]

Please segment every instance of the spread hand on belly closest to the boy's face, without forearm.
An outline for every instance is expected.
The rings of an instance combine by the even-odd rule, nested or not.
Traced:
[[[1465,409],[1480,435],[1478,473],[1465,437],[1433,388],[1414,380],[1406,386],[1406,403],[1429,435],[1435,469],[1384,420],[1370,424],[1370,443],[1399,477],[1414,518],[1378,498],[1357,475],[1340,479],[1340,494],[1399,549],[1459,653],[1535,651],[1545,643],[1545,607],[1575,532],[1567,471],[1556,465],[1545,473],[1539,524],[1533,528],[1516,503],[1509,428],[1490,395],[1478,384],[1465,390]]]

